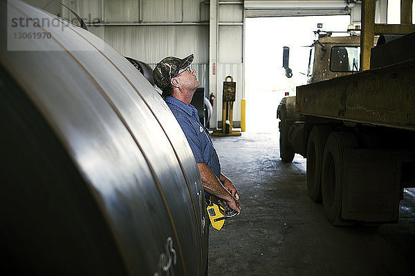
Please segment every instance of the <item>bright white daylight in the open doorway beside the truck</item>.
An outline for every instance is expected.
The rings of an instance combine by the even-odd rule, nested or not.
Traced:
[[[346,31],[349,15],[321,17],[266,17],[246,19],[245,89],[246,130],[278,130],[277,107],[285,92],[295,96],[295,87],[307,83],[308,57],[315,39],[313,30]],[[346,33],[339,35],[348,35]],[[288,79],[282,68],[283,46],[290,47]]]

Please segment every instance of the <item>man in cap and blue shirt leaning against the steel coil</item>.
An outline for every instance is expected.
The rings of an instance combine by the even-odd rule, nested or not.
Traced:
[[[199,87],[196,70],[190,68],[192,61],[193,54],[184,59],[166,57],[154,68],[154,82],[163,90],[163,98],[192,148],[205,193],[224,199],[239,215],[242,209],[237,188],[221,173],[221,164],[209,132],[201,125],[196,108],[190,104]]]

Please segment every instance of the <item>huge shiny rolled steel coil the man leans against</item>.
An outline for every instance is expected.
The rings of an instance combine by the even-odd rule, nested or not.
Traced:
[[[91,32],[21,1],[0,13],[1,270],[204,275],[199,170],[160,95]]]

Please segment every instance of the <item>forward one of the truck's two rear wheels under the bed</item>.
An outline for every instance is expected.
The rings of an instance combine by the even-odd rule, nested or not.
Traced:
[[[322,201],[322,159],[331,128],[314,126],[307,143],[307,189],[313,201]]]

